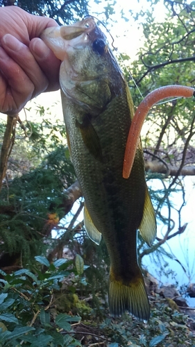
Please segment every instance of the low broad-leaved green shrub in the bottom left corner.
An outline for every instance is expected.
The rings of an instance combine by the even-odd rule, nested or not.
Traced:
[[[80,316],[51,310],[55,293],[60,293],[65,278],[78,276],[74,262],[60,259],[49,264],[45,257],[36,260],[47,266],[46,272],[38,264],[33,272],[22,269],[6,275],[1,271],[1,346],[15,347],[24,342],[32,347],[81,346],[71,328],[71,323],[79,322]]]

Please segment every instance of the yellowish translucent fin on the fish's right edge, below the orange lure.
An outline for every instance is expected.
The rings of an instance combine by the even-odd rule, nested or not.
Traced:
[[[145,201],[144,201],[144,213],[141,224],[139,226],[139,232],[142,235],[146,244],[151,246],[156,236],[156,221],[155,212],[151,203],[151,197],[149,195],[148,187],[146,186]]]

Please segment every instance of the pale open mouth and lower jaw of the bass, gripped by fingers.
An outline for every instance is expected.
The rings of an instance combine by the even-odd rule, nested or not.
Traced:
[[[46,28],[40,38],[53,51],[55,56],[64,60],[67,57],[69,46],[82,46],[87,44],[88,35],[95,31],[96,23],[93,17],[87,17],[80,22],[69,26],[51,26]]]

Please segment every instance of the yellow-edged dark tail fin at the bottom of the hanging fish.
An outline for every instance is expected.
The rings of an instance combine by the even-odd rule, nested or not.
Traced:
[[[127,282],[117,278],[110,267],[108,296],[110,314],[121,316],[124,312],[128,312],[146,323],[150,318],[150,305],[142,272],[138,266],[137,269],[137,276]]]

